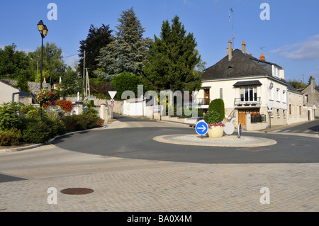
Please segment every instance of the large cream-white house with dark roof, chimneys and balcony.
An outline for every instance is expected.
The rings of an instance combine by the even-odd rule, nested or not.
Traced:
[[[199,108],[208,108],[210,101],[222,98],[225,117],[233,119],[235,125],[241,123],[246,128],[247,114],[252,122],[264,121],[256,127],[258,129],[286,125],[288,102],[291,101],[287,95],[293,91],[290,97],[294,101],[303,94],[289,86],[284,80],[284,69],[278,64],[267,62],[264,55],[257,59],[247,54],[244,42],[242,50],[233,50],[231,45],[229,41],[227,55],[222,60],[203,72],[197,97]],[[298,117],[298,121],[307,120],[306,115]]]

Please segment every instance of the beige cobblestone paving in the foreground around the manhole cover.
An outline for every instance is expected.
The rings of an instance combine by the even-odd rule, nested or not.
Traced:
[[[135,160],[132,159],[134,162]],[[0,211],[319,211],[319,164],[186,164],[0,183]],[[47,188],[57,188],[48,204]],[[66,195],[62,189],[94,189]],[[259,201],[260,188],[270,204]]]

